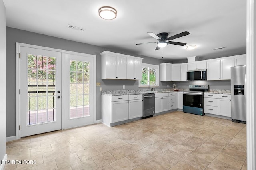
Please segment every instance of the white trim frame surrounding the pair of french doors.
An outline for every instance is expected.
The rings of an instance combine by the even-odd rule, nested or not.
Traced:
[[[54,48],[49,48],[49,47],[42,47],[38,45],[31,45],[31,44],[25,44],[25,43],[18,43],[16,42],[16,140],[20,139],[20,47],[30,47],[30,48],[37,48],[37,49],[44,49],[44,50],[49,50],[49,51],[57,51],[62,53],[62,57],[64,57],[65,53],[67,54],[73,54],[73,55],[81,55],[81,56],[90,56],[94,60],[94,65],[93,65],[93,71],[96,75],[96,55],[91,55],[91,54],[85,54],[85,53],[78,53],[78,52],[73,52],[73,51],[66,51],[66,50],[61,50],[61,49],[54,49]],[[93,86],[94,88],[94,95],[96,95],[96,76],[93,77]],[[94,123],[97,123],[96,121],[96,96],[94,97],[93,101],[93,106],[94,107]],[[63,129],[63,119],[62,119],[62,129]]]

